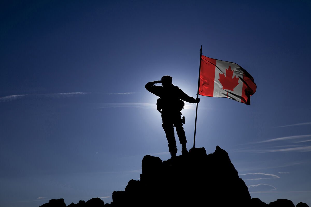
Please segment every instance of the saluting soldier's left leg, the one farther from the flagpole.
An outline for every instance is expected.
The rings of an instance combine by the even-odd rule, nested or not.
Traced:
[[[177,146],[171,117],[169,115],[162,114],[162,123],[167,142],[169,143],[169,152],[172,154],[172,156],[174,156],[177,153]]]

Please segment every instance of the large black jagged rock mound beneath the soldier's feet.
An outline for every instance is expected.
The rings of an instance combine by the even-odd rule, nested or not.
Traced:
[[[228,153],[219,146],[209,155],[204,148],[192,148],[164,162],[146,155],[141,181],[130,180],[112,199],[111,206],[246,206],[251,200]]]

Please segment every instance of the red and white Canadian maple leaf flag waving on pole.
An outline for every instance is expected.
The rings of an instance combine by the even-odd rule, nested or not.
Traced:
[[[250,104],[250,96],[256,92],[253,77],[233,62],[201,57],[199,94],[210,97],[226,97]]]

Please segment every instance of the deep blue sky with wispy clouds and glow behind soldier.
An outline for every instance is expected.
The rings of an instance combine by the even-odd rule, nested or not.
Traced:
[[[170,75],[196,97],[201,45],[257,91],[251,105],[199,96],[195,147],[227,151],[251,197],[311,206],[309,1],[13,0],[0,25],[0,206],[110,203],[145,155],[169,159],[145,84]]]

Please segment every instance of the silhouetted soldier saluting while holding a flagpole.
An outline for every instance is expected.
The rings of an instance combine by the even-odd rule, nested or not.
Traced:
[[[156,83],[162,83],[162,86],[155,86]],[[172,84],[172,77],[165,75],[161,80],[149,82],[145,88],[160,97],[157,101],[157,109],[161,112],[162,127],[165,131],[167,142],[169,143],[169,152],[172,158],[176,157],[177,146],[175,140],[174,127],[179,138],[179,142],[182,145],[182,154],[188,153],[187,140],[185,131],[183,130],[183,119],[180,112],[183,109],[184,102],[199,103],[199,98],[189,97],[178,86]],[[182,101],[183,100],[183,101]]]

